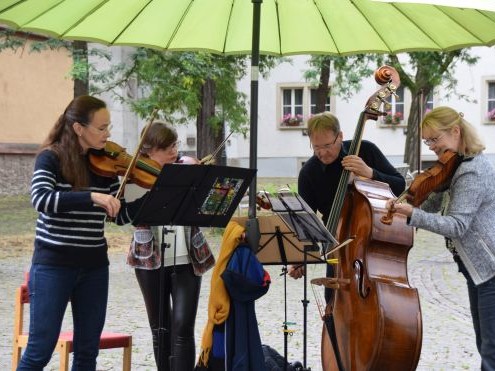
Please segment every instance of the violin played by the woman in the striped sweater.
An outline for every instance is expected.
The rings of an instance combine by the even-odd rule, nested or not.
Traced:
[[[126,152],[125,148],[111,141],[107,141],[104,149],[89,153],[91,171],[105,177],[125,175],[132,160],[133,157]],[[158,162],[139,155],[129,174],[129,181],[149,189],[155,184],[160,171],[161,166]]]

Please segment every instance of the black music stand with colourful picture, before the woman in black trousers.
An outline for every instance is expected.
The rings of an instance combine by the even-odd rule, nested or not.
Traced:
[[[185,225],[225,227],[239,205],[255,169],[215,165],[167,164],[148,192],[133,225]],[[164,232],[165,233],[165,232]],[[163,371],[165,328],[164,255],[167,244],[161,244],[160,297],[158,316],[158,371]]]

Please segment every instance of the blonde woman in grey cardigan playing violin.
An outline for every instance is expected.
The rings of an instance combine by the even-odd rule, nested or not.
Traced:
[[[475,129],[449,107],[438,107],[421,123],[424,143],[440,157],[450,150],[463,156],[445,191],[432,193],[420,208],[387,202],[411,226],[441,234],[465,276],[481,355],[481,369],[495,370],[495,169],[483,154]],[[442,199],[448,204],[443,215]]]

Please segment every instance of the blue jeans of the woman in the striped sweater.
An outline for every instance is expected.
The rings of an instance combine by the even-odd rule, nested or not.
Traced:
[[[29,273],[29,340],[17,370],[43,370],[55,349],[69,301],[74,323],[72,371],[96,369],[108,300],[108,266],[34,264]]]

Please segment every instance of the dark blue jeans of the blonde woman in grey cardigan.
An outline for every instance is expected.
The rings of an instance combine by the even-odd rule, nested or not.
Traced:
[[[467,280],[476,347],[481,355],[481,370],[495,371],[495,277],[475,286],[464,264],[456,259]]]

